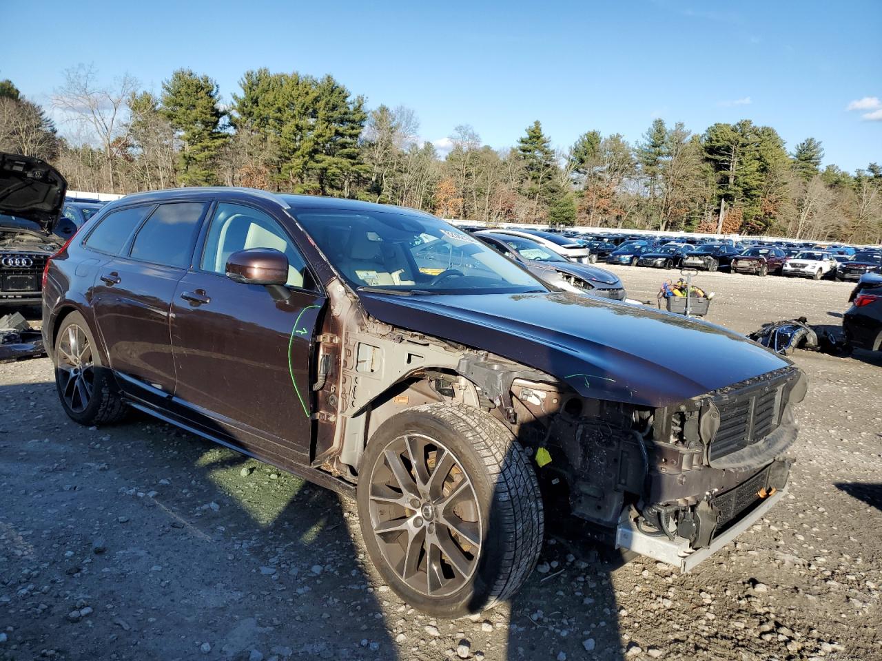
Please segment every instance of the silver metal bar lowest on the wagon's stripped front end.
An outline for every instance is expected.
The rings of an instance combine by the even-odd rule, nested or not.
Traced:
[[[697,567],[700,562],[705,561],[708,557],[719,551],[722,546],[729,544],[730,541],[750,528],[751,525],[755,524],[785,494],[787,494],[786,488],[769,496],[750,514],[744,516],[727,531],[715,537],[710,546],[701,548],[698,551],[693,551],[689,546],[689,540],[682,537],[677,537],[674,541],[671,541],[667,537],[653,537],[645,532],[640,532],[633,525],[631,519],[626,518],[627,512],[625,512],[616,529],[616,548],[626,548],[634,553],[646,555],[653,560],[678,567],[681,572],[688,572],[692,568]]]

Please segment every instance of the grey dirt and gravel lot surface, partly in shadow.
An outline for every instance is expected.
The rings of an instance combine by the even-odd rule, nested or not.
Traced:
[[[644,301],[672,275],[614,270]],[[739,332],[838,324],[851,288],[696,282]],[[790,494],[736,543],[680,575],[551,537],[512,604],[457,621],[380,581],[354,503],[145,416],[78,427],[48,359],[0,365],[0,659],[880,659],[882,360],[794,360]]]

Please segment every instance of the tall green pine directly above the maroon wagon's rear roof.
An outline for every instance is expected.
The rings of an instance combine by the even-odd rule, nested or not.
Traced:
[[[162,83],[162,113],[183,144],[178,182],[184,186],[217,182],[214,160],[228,138],[220,128],[224,113],[217,83],[189,69],[175,71]]]

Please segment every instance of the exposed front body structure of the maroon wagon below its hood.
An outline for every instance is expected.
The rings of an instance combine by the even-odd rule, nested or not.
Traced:
[[[807,389],[793,366],[652,408],[583,397],[542,371],[378,323],[350,303],[334,301],[339,316],[320,336],[328,341],[318,364],[340,364],[341,374],[320,370],[330,395],[318,401],[336,410],[318,412],[317,468],[355,479],[364,444],[384,420],[408,406],[459,400],[511,429],[534,459],[549,509],[592,524],[609,544],[681,568],[679,557],[720,546],[786,490],[791,405]],[[321,424],[335,420],[342,424]]]

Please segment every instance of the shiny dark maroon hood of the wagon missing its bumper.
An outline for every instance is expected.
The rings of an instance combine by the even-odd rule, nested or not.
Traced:
[[[382,322],[635,405],[669,405],[791,364],[712,323],[568,292],[361,297]]]

